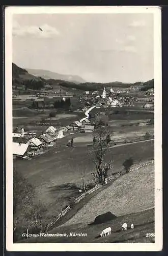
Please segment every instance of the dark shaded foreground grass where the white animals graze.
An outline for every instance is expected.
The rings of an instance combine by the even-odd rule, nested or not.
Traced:
[[[82,220],[81,220],[82,221]],[[121,232],[122,224],[126,222],[130,227],[134,223],[134,229]],[[113,231],[110,236],[96,238],[105,227],[111,227]],[[154,209],[120,216],[115,220],[98,224],[80,227],[79,224],[68,227],[58,227],[49,233],[87,233],[87,237],[43,237],[22,240],[19,243],[153,243],[154,238],[146,238],[147,233],[154,233]]]

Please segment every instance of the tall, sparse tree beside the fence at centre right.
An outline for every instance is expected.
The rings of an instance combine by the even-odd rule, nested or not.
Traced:
[[[95,177],[98,179],[99,183],[104,183],[107,178],[108,170],[111,168],[112,160],[106,161],[106,153],[110,146],[107,143],[106,137],[108,135],[107,127],[98,126],[94,132],[93,152],[94,152],[94,162],[96,165]]]

